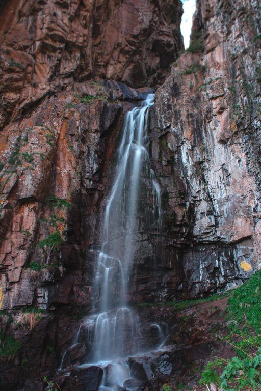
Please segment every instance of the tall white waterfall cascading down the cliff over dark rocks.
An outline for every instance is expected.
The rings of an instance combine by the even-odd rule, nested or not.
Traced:
[[[156,354],[164,342],[159,324],[150,324],[155,330],[155,346],[144,341],[138,313],[127,302],[137,235],[144,219],[148,217],[149,227],[153,227],[159,240],[162,237],[160,186],[148,153],[149,108],[153,101],[154,95],[148,94],[139,107],[125,115],[116,174],[103,218],[102,245],[93,250],[93,315],[82,319],[75,344],[70,348],[81,342],[88,344],[88,357],[81,367],[102,368],[99,391],[135,389],[137,381],[128,357]],[[139,199],[144,197],[141,188],[152,200],[146,216],[139,208]]]

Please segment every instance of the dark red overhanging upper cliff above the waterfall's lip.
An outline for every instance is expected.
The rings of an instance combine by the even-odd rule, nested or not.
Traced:
[[[179,0],[1,4],[1,125],[65,86],[95,76],[163,81],[182,48]]]

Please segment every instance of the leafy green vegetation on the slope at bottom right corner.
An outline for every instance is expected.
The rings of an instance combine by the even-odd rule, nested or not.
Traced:
[[[227,300],[225,337],[235,353],[231,359],[208,362],[200,385],[215,383],[224,391],[261,389],[261,271],[234,290]]]

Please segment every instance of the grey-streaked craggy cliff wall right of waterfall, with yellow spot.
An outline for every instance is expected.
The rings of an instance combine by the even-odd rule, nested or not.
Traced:
[[[260,267],[259,23],[258,2],[199,1],[153,107],[165,254],[192,295]]]

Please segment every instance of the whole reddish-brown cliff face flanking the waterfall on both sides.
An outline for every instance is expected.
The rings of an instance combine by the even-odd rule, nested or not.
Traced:
[[[22,344],[1,355],[0,383],[13,391],[59,367],[90,310],[122,119],[177,59],[182,11],[178,0],[20,0],[0,11],[0,322]],[[259,268],[259,20],[254,0],[197,3],[194,43],[150,113],[163,235],[141,222],[129,302],[194,298]],[[28,307],[42,309],[33,328]],[[68,388],[79,384],[75,375]]]

